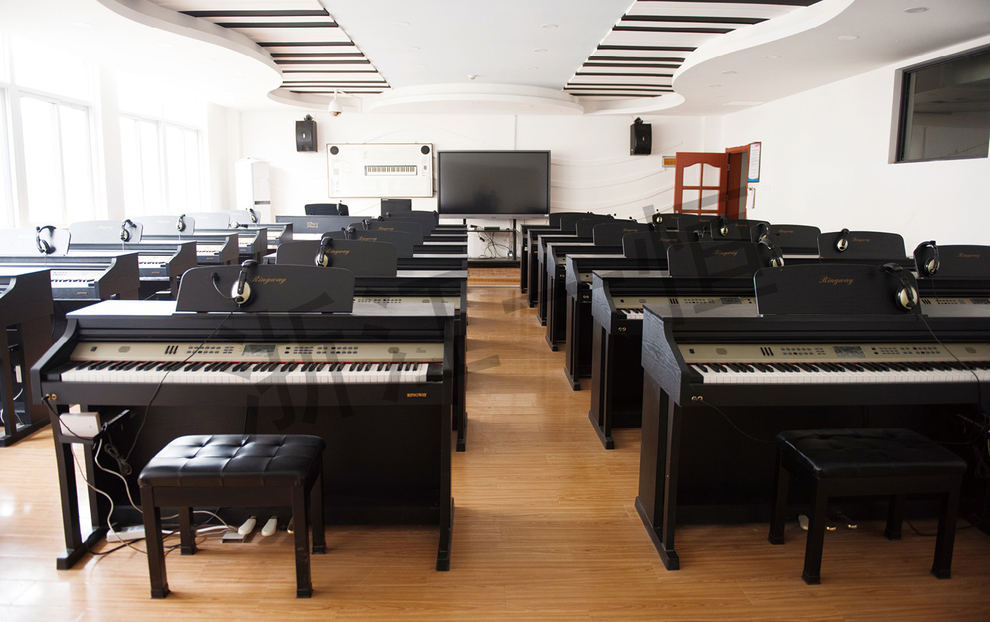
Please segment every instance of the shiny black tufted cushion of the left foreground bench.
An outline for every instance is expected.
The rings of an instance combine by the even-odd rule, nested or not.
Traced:
[[[142,486],[305,486],[327,444],[303,434],[180,436],[141,472]]]

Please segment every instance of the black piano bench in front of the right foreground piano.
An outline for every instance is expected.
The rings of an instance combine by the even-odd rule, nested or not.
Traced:
[[[904,428],[789,430],[776,437],[776,489],[770,544],[784,543],[788,476],[812,490],[802,578],[822,582],[826,509],[833,496],[890,495],[889,540],[901,539],[906,494],[938,493],[939,533],[932,574],[949,578],[959,488],[966,463],[939,443]]]

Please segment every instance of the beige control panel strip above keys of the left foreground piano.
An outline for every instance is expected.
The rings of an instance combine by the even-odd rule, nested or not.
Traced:
[[[82,342],[69,360],[178,363],[442,362],[443,343]]]

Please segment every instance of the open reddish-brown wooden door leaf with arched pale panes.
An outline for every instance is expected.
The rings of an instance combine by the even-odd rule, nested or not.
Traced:
[[[729,154],[678,151],[676,155],[674,213],[725,216]]]

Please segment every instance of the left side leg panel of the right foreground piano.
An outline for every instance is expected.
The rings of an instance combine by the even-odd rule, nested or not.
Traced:
[[[676,411],[675,411],[676,409]],[[671,434],[680,435],[680,408],[674,400],[644,375],[643,441],[640,450],[640,494],[636,509],[646,527],[653,547],[660,554],[668,571],[680,569],[674,551],[674,518],[677,503],[676,463],[671,464],[670,451],[676,452]],[[671,466],[674,467],[671,475]]]

